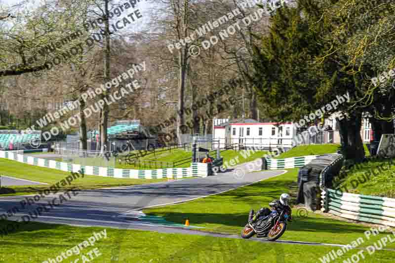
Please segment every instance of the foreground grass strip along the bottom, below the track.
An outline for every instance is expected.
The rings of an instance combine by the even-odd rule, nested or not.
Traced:
[[[0,228],[4,225],[0,221]],[[0,262],[42,263],[54,259],[67,250],[87,240],[101,227],[73,227],[29,223],[16,233],[0,237]],[[259,263],[289,262],[316,263],[335,247],[306,246],[279,243],[261,243],[231,238],[217,238],[186,234],[164,234],[149,231],[106,228],[107,238],[93,246],[83,248],[79,255],[72,255],[62,262],[82,262],[82,255],[97,248],[100,256],[93,255],[90,262],[133,263]],[[357,250],[343,255],[347,259]],[[366,254],[366,255],[365,255]],[[392,262],[395,252],[378,251],[369,256],[364,253],[364,263]],[[88,261],[85,261],[88,262]]]

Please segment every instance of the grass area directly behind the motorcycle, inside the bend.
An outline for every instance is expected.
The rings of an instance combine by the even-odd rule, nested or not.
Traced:
[[[294,192],[298,169],[287,169],[288,173],[250,186],[238,188],[218,195],[200,198],[183,204],[144,210],[152,216],[162,216],[167,221],[203,226],[203,231],[239,234],[250,209],[255,211],[278,198],[281,193]],[[295,195],[292,194],[293,200]],[[309,242],[347,244],[363,236],[367,227],[334,220],[318,213],[309,213],[308,218],[298,216],[293,209],[294,221],[281,239]],[[393,244],[395,247],[395,243]]]

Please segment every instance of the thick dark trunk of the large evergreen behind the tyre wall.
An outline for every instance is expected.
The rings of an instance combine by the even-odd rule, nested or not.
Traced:
[[[337,121],[340,124],[342,154],[346,159],[352,159],[356,163],[362,162],[365,157],[360,134],[362,113],[352,113],[343,119],[337,118]]]

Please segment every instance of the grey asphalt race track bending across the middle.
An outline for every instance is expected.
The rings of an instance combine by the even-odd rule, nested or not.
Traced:
[[[32,198],[34,195],[8,196],[0,198],[0,215],[13,207],[17,207],[17,213],[10,217],[10,220],[22,221],[21,217],[28,215],[30,212],[35,218],[31,219],[31,221],[44,223],[110,226],[156,231],[159,231],[159,228],[163,228],[162,230],[165,232],[173,232],[171,231],[173,228],[169,229],[166,226],[152,225],[139,221],[133,222],[126,220],[125,217],[133,216],[135,210],[217,194],[268,179],[284,172],[284,170],[254,172],[248,173],[242,178],[238,178],[233,172],[226,172],[207,178],[185,179],[131,187],[81,190],[76,192],[76,196],[70,192],[71,198],[64,195],[67,200],[64,200],[58,206],[54,206],[53,209],[41,213],[38,218],[36,218],[34,210],[40,204],[41,207],[47,204],[46,207],[49,208],[48,202],[51,202],[55,197],[57,197],[55,204],[58,204],[59,193],[41,197],[38,202],[32,205],[25,204],[23,207],[21,202],[24,203],[27,201],[26,198]]]

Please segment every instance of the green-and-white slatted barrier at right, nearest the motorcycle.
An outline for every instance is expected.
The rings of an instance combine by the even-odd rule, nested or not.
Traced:
[[[395,199],[332,190],[321,192],[321,211],[361,222],[395,226]]]

